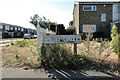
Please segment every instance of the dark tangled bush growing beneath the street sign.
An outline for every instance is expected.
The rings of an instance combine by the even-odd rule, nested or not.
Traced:
[[[48,46],[48,45],[47,45]],[[88,59],[81,55],[73,54],[65,45],[52,44],[50,45],[50,50],[52,52],[51,56],[47,57],[45,54],[46,46],[43,44],[42,47],[42,64],[58,68],[58,69],[79,69],[84,67]]]

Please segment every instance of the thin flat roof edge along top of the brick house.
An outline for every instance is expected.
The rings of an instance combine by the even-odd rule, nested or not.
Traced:
[[[113,4],[120,1],[75,1],[75,4]]]

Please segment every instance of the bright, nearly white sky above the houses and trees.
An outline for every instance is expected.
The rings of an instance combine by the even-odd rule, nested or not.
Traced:
[[[30,17],[38,14],[67,28],[73,20],[74,1],[81,0],[0,0],[0,22],[34,28]]]

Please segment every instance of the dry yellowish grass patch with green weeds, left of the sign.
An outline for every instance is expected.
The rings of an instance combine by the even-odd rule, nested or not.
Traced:
[[[28,44],[20,47],[17,44],[2,47],[4,67],[39,67],[35,52],[35,41],[28,40]]]

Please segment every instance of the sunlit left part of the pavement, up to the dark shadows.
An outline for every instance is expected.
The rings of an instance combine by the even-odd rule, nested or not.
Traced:
[[[48,78],[44,69],[3,68],[2,78]]]

